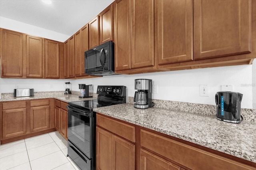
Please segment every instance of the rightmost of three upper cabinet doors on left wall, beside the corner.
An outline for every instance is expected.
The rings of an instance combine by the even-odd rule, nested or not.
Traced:
[[[60,55],[59,55],[59,42],[46,39],[45,45],[45,69],[46,78],[59,78],[60,77]]]

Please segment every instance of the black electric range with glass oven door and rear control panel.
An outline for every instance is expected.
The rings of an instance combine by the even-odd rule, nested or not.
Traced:
[[[98,86],[97,99],[68,103],[68,155],[82,170],[96,169],[96,113],[126,103],[126,86]]]

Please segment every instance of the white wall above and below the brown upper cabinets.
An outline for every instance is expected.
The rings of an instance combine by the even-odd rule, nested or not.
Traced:
[[[0,27],[60,42],[68,39],[65,35],[3,17],[0,18]],[[132,97],[135,92],[134,79],[145,78],[152,79],[153,84],[158,85],[158,94],[153,94],[153,99],[215,105],[214,96],[217,91],[221,91],[221,85],[233,85],[233,91],[243,94],[242,107],[253,108],[252,103],[254,103],[254,105],[256,103],[255,75],[256,60],[253,65],[168,71],[136,75],[112,75],[78,80],[0,78],[0,93],[13,93],[13,89],[17,87],[34,88],[35,91],[64,91],[64,82],[70,81],[72,83],[71,90],[79,91],[78,84],[85,83],[94,85],[94,93],[96,93],[96,87],[98,85],[125,85],[127,87],[127,95]],[[209,85],[209,97],[199,96],[200,84]]]

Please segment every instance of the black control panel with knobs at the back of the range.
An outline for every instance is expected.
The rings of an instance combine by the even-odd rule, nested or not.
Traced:
[[[126,96],[126,86],[104,86],[98,85],[98,95],[117,95],[121,97]]]

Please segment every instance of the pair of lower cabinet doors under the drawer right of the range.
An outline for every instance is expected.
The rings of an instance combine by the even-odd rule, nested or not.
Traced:
[[[121,169],[135,169],[135,145],[96,127],[96,170]]]

